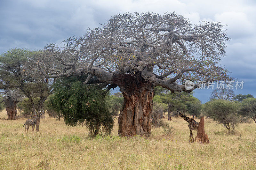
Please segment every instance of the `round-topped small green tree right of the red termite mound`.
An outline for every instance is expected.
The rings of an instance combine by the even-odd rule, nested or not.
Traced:
[[[230,132],[234,131],[235,126],[239,122],[239,104],[228,100],[212,100],[204,104],[204,113],[214,121],[222,123]],[[231,127],[231,128],[230,128]]]

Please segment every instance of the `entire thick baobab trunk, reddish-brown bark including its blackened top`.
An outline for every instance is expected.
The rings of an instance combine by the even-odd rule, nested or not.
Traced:
[[[120,75],[117,83],[124,95],[123,107],[118,118],[121,136],[151,136],[154,85],[132,75]],[[122,83],[122,82],[123,83]]]

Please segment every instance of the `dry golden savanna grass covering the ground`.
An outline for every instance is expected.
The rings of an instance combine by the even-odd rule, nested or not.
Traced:
[[[85,126],[67,127],[47,117],[40,132],[32,134],[30,127],[24,135],[26,119],[6,117],[6,111],[0,113],[0,169],[256,169],[254,122],[239,124],[229,135],[205,119],[210,143],[202,145],[188,142],[188,123],[180,117],[169,122],[175,129],[171,136],[153,128],[149,138],[118,137],[115,120],[112,135],[94,139]]]

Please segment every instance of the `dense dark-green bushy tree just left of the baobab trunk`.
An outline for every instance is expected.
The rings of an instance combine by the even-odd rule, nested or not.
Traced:
[[[109,113],[106,93],[97,86],[83,85],[87,76],[62,78],[55,85],[53,107],[61,112],[67,125],[76,126],[78,122],[89,128],[89,135],[100,132],[110,134],[114,120]]]

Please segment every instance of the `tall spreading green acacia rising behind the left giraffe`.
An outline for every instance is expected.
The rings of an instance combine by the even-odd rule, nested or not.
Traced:
[[[0,55],[0,89],[19,88],[31,104],[32,115],[42,110],[44,101],[52,93],[52,80],[42,77],[36,65],[40,53],[13,48]],[[36,131],[39,123],[37,119]]]

